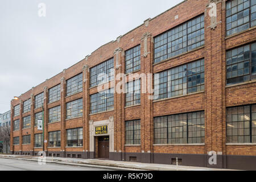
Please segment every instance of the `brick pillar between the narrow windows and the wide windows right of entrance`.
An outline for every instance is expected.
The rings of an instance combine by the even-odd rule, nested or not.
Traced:
[[[142,163],[151,163],[151,129],[152,129],[152,100],[149,100],[151,94],[148,92],[148,73],[152,73],[151,60],[151,34],[146,32],[141,38],[141,71],[146,74],[141,78],[142,88],[147,88],[146,93],[141,94],[141,150]],[[142,89],[143,92],[143,89]]]

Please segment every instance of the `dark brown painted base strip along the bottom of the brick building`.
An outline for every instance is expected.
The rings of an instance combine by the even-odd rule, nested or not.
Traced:
[[[13,155],[38,155],[31,151],[14,151]],[[59,156],[60,158],[82,158],[95,159],[95,152],[46,152],[47,156]],[[109,160],[126,161],[134,160],[139,163],[155,163],[176,165],[176,158],[179,159],[180,166],[240,169],[256,171],[256,156],[242,155],[217,155],[217,164],[209,164],[209,155],[204,154],[152,154],[152,153],[125,153],[110,152]],[[174,162],[174,163],[172,163]]]

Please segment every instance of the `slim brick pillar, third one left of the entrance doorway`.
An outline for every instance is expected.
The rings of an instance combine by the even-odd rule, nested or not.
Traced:
[[[47,143],[44,143],[43,150],[46,151],[46,155],[48,154],[47,147],[48,147],[48,105],[47,105],[47,98],[48,98],[48,88],[47,86],[44,87],[44,140],[47,140]]]

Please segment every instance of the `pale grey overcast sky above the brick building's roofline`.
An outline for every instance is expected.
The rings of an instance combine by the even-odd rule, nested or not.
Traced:
[[[14,96],[182,1],[0,0],[0,113]]]

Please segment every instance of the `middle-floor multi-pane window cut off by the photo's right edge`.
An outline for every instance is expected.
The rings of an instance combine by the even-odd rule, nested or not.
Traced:
[[[256,43],[226,52],[227,84],[256,79]]]

